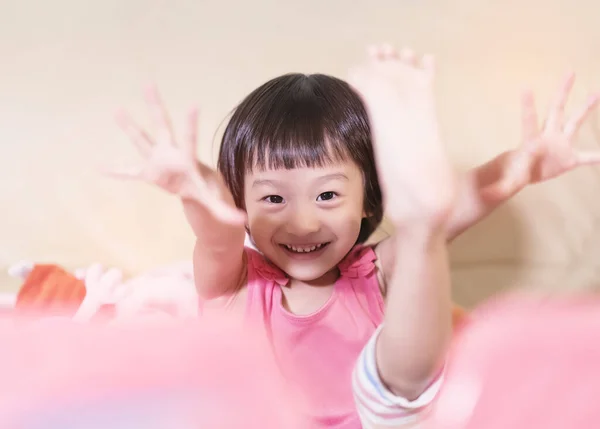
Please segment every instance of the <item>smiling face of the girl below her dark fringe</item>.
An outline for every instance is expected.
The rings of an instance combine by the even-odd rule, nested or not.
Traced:
[[[356,243],[362,173],[353,162],[246,174],[248,227],[256,247],[291,278],[330,272]]]

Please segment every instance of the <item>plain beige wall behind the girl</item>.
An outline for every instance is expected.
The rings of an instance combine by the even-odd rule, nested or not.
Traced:
[[[126,106],[144,117],[145,82],[158,82],[176,114],[200,104],[200,156],[212,162],[217,126],[266,79],[343,77],[365,44],[408,44],[438,58],[443,128],[463,168],[517,144],[523,85],[545,102],[573,68],[574,101],[600,87],[592,0],[8,3],[0,11],[2,271],[34,259],[137,272],[189,257],[177,201],[94,171],[135,160],[112,114]],[[593,134],[582,133],[582,146],[594,147]],[[509,285],[551,288],[567,267],[574,286],[589,284],[600,266],[599,174],[582,170],[529,189],[458,240],[459,301]]]

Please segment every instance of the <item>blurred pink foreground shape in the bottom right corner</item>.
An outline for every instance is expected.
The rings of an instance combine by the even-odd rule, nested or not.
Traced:
[[[498,301],[458,335],[427,429],[600,428],[600,300]]]

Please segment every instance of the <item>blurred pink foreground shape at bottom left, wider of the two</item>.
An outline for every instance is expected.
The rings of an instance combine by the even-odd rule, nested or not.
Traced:
[[[0,322],[5,429],[303,427],[266,342],[224,320]]]

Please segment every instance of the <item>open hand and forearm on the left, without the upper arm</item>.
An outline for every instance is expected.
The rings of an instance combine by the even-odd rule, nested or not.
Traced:
[[[136,168],[113,170],[109,174],[154,184],[184,200],[197,202],[224,223],[243,224],[245,214],[234,206],[218,173],[196,159],[198,111],[189,112],[185,136],[179,141],[155,88],[147,91],[146,101],[157,130],[155,136],[140,128],[127,113],[121,112],[117,117],[143,162]]]

